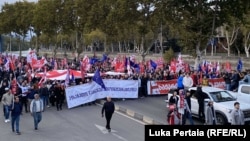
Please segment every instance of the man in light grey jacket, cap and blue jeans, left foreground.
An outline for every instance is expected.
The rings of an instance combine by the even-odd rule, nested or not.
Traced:
[[[39,94],[35,94],[35,98],[30,104],[30,113],[34,118],[34,128],[38,130],[38,124],[42,120],[42,112],[44,110],[43,101],[40,99]]]

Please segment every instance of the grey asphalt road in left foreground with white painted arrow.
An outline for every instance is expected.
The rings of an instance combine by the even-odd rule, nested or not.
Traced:
[[[3,141],[144,141],[144,124],[118,112],[111,120],[112,131],[107,132],[98,105],[64,107],[62,111],[47,108],[38,130],[34,130],[32,116],[24,113],[20,121],[21,135],[13,133],[11,124],[4,122],[2,104],[0,109],[0,137]]]

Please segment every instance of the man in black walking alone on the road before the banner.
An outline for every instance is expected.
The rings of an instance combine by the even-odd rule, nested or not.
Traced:
[[[110,121],[111,121],[114,111],[115,111],[115,104],[111,100],[111,97],[108,96],[107,101],[103,104],[103,107],[102,107],[102,117],[104,117],[104,112],[105,112],[106,129],[109,132],[111,132]]]

